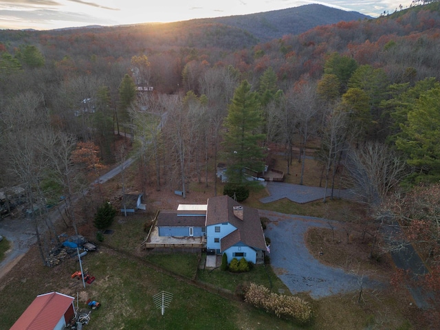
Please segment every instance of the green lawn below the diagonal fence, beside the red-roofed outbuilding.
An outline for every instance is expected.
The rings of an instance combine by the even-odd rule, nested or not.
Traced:
[[[195,254],[177,256],[146,259],[165,264],[183,276],[197,272]],[[80,308],[86,308],[88,298],[102,304],[92,312],[87,329],[267,329],[267,325],[274,325],[275,329],[300,329],[292,322],[207,292],[190,284],[191,281],[179,281],[139,259],[107,248],[101,247],[83,258],[83,267],[96,276],[96,281],[85,289],[81,281],[70,278],[78,269],[75,259],[50,269],[40,265],[34,248],[25,258],[25,263],[1,281],[1,296],[8,299],[0,300],[0,329],[9,329],[37,294],[52,291],[75,297],[78,293]],[[23,273],[29,276],[19,278]],[[162,291],[173,294],[164,316],[153,303],[153,296]]]

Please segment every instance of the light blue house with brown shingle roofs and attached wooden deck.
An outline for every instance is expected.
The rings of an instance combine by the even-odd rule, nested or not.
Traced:
[[[245,258],[263,263],[267,250],[258,210],[241,206],[229,196],[211,197],[207,204],[180,205],[157,212],[144,248],[206,248],[225,253],[228,262]]]

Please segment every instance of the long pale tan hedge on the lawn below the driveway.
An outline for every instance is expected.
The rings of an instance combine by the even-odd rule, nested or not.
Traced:
[[[293,320],[305,325],[311,320],[311,306],[307,301],[285,294],[271,293],[267,287],[251,283],[245,292],[245,302],[263,308],[278,318]]]

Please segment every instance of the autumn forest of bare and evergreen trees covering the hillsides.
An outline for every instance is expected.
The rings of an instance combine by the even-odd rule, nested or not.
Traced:
[[[325,8],[313,8],[316,22]],[[440,270],[440,3],[299,34],[283,19],[295,11],[1,31],[0,186],[23,186],[31,210],[69,203],[85,174],[128,157],[121,133],[133,133],[143,182],[183,192],[214,181],[219,162],[252,168],[244,142],[281,146],[288,159],[299,148],[304,159],[313,140],[322,186],[343,172],[372,221],[401,221]],[[237,104],[252,104],[255,119],[242,154],[224,142],[236,140]]]

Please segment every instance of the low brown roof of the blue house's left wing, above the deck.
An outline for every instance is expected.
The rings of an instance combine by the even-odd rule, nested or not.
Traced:
[[[158,227],[204,227],[206,211],[203,210],[162,210],[157,214]]]

